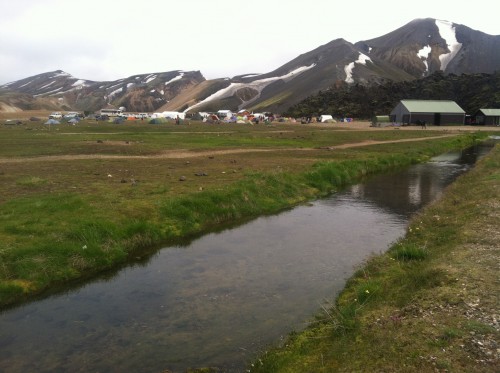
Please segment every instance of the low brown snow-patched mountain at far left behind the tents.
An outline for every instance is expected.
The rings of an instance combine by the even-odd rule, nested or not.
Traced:
[[[11,107],[20,97],[31,95],[33,100],[30,105],[24,105],[24,110],[50,108],[95,111],[106,106],[124,106],[130,111],[152,112],[203,81],[205,78],[199,71],[176,70],[133,75],[111,82],[95,82],[57,70],[1,86],[0,105],[3,102],[4,107]],[[4,94],[1,94],[2,91]]]

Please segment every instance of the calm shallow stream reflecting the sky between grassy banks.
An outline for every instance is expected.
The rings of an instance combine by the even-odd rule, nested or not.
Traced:
[[[355,268],[402,237],[487,147],[378,175],[329,198],[158,251],[0,314],[1,372],[244,372],[301,330]]]

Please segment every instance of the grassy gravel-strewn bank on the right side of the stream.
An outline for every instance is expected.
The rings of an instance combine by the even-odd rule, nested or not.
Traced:
[[[495,372],[500,147],[252,372]]]

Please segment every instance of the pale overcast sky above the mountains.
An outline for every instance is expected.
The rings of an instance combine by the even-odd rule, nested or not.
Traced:
[[[0,0],[0,84],[54,70],[79,79],[200,70],[270,72],[343,38],[436,18],[500,35],[491,0]],[[491,9],[493,10],[493,9]]]

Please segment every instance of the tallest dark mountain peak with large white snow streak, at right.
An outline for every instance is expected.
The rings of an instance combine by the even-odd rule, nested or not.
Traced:
[[[500,36],[432,18],[417,19],[355,46],[370,57],[405,70],[415,78],[447,74],[493,73],[500,69]]]

